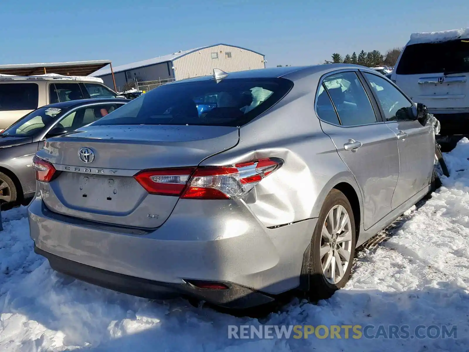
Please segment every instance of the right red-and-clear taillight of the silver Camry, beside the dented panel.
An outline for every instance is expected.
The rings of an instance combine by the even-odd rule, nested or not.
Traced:
[[[234,166],[145,170],[135,179],[152,194],[184,199],[241,199],[283,161],[265,158]]]

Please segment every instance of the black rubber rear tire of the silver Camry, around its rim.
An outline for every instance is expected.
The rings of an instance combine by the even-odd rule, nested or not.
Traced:
[[[352,232],[352,243],[351,243],[351,253],[350,259],[348,262],[348,267],[344,271],[342,279],[338,283],[330,283],[327,281],[323,269],[322,262],[319,254],[322,242],[322,228],[325,224],[327,214],[329,211],[336,205],[341,205],[345,208],[348,213],[351,232]],[[333,295],[333,293],[340,288],[344,287],[347,283],[350,273],[352,271],[353,258],[355,254],[355,245],[356,245],[356,229],[355,229],[355,219],[353,215],[353,210],[348,201],[347,197],[339,190],[333,189],[327,195],[324,204],[319,213],[318,223],[311,238],[311,251],[310,251],[310,265],[309,265],[309,275],[310,275],[310,290],[309,296],[310,299],[325,299]]]

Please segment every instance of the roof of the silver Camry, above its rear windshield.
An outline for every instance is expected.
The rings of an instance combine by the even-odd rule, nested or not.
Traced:
[[[371,70],[368,67],[354,65],[354,64],[340,64],[340,63],[333,63],[333,64],[324,64],[324,65],[311,65],[311,66],[287,66],[287,67],[273,67],[268,69],[251,69],[246,71],[236,71],[236,72],[229,72],[228,76],[222,79],[236,79],[236,78],[290,78],[295,76],[302,77],[302,76],[309,76],[314,73],[318,72],[327,72],[327,71],[334,71],[338,69],[367,69]],[[212,76],[202,76],[202,77],[194,77],[194,78],[187,78],[182,79],[179,81],[175,81],[168,84],[180,84],[186,82],[197,82],[197,81],[205,81],[212,79]]]

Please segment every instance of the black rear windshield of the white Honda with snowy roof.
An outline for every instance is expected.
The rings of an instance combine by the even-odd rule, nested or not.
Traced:
[[[398,75],[469,72],[469,39],[412,44],[405,48]]]

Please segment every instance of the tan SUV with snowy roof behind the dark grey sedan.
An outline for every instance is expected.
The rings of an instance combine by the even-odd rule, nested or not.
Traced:
[[[118,96],[98,77],[71,77],[56,74],[0,75],[0,130],[44,105],[68,100]]]

